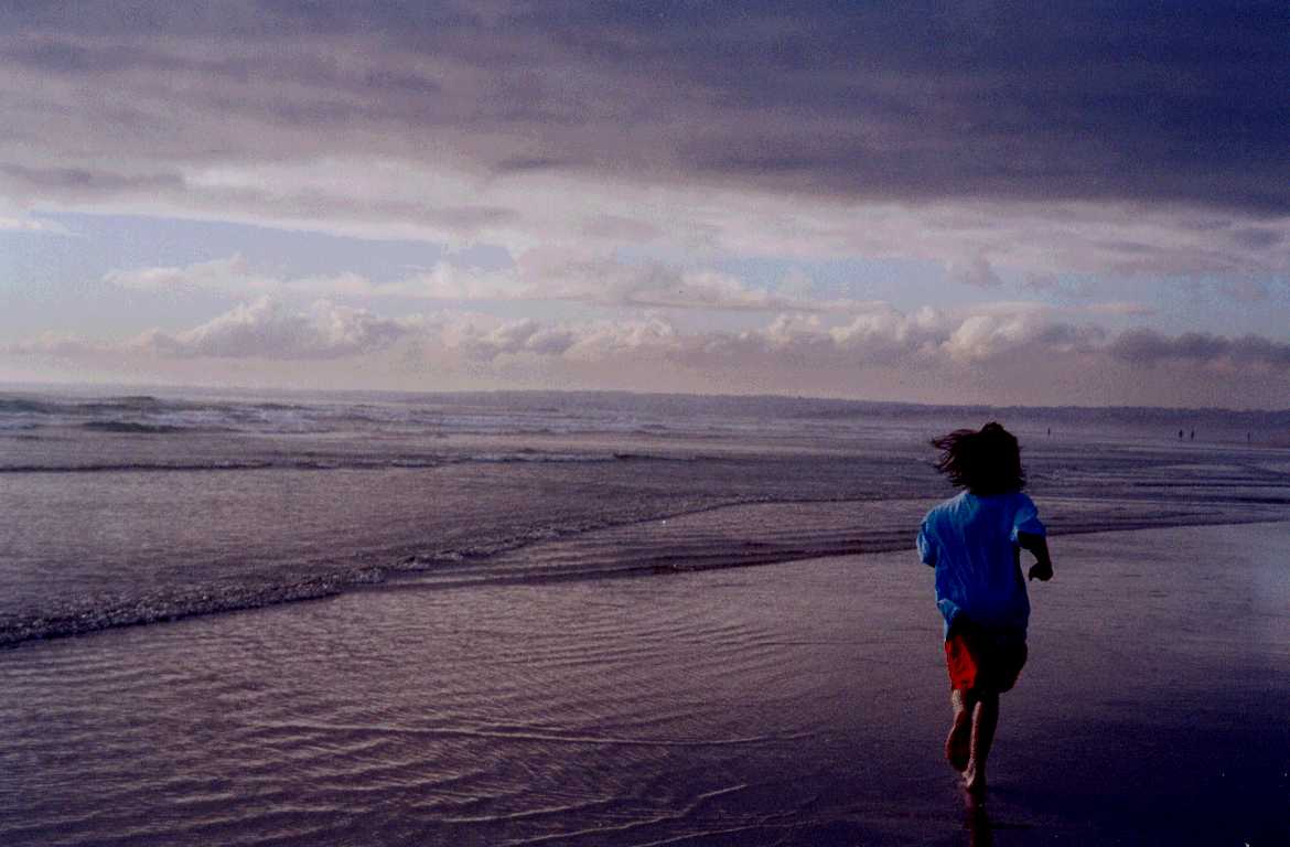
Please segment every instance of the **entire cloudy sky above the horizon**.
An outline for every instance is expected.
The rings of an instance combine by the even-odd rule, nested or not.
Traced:
[[[0,381],[1290,407],[1284,3],[0,3]]]

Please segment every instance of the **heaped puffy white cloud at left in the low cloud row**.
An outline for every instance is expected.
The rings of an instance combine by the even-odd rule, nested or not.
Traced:
[[[130,346],[177,358],[334,359],[388,347],[415,328],[415,321],[378,318],[326,301],[299,312],[262,297],[184,332],[154,329]]]

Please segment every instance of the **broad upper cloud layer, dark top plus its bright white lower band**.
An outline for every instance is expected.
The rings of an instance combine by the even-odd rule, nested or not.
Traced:
[[[0,9],[0,194],[978,283],[1290,269],[1275,3],[130,8]]]

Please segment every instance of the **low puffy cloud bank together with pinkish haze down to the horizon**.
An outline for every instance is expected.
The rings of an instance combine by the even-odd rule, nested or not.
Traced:
[[[270,297],[186,331],[121,342],[41,336],[0,347],[10,372],[58,363],[99,378],[330,387],[591,387],[828,394],[929,403],[1284,404],[1290,343],[1258,336],[1109,333],[1027,303],[853,315],[786,312],[742,329],[680,315],[392,319]],[[310,362],[301,368],[301,362]],[[17,364],[14,364],[17,363]],[[26,364],[25,364],[26,363]],[[48,364],[41,364],[48,363]],[[41,369],[46,368],[46,369]],[[230,376],[232,374],[232,376]]]

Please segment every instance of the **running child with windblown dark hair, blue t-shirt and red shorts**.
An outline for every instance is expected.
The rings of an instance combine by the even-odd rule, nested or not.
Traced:
[[[937,469],[964,491],[928,513],[918,554],[937,569],[937,606],[946,618],[953,724],[946,758],[971,797],[986,794],[986,759],[998,723],[998,695],[1026,664],[1031,615],[1020,550],[1036,563],[1029,578],[1053,578],[1044,524],[1022,493],[1017,438],[998,424],[956,430],[931,445]]]

